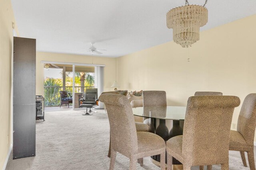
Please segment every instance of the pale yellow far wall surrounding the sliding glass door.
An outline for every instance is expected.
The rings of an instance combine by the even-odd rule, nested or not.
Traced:
[[[92,64],[92,60],[93,64],[106,65],[104,68],[104,91],[113,90],[110,86],[116,80],[116,58],[36,52],[36,95],[44,93],[44,64],[41,61]]]

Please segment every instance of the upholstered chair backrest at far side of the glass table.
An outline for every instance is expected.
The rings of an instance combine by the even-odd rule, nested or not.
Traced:
[[[167,106],[165,91],[143,91],[143,106]]]

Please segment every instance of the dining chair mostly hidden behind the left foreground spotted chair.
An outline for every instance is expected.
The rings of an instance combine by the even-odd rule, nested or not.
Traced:
[[[110,92],[102,92],[102,94],[120,94],[120,92],[110,91]],[[106,111],[106,108],[105,108],[105,111]],[[144,123],[135,122],[135,126],[136,126],[137,132],[148,132],[149,131],[149,126]],[[108,157],[110,157],[110,155],[111,155],[111,137],[109,139]],[[143,159],[138,160],[138,162],[140,162],[141,165],[143,165]]]

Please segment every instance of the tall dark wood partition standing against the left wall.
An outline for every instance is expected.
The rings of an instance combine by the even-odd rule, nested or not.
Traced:
[[[14,37],[13,159],[36,156],[36,39]]]

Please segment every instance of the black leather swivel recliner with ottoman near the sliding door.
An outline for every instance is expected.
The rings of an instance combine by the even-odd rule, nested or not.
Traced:
[[[92,115],[92,113],[96,113],[97,111],[92,111],[91,108],[98,106],[98,88],[86,89],[84,98],[80,99],[80,101],[82,101],[80,107],[86,107],[86,113],[82,115]],[[90,110],[87,111],[87,108],[90,108]]]

